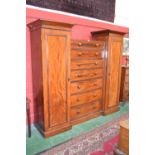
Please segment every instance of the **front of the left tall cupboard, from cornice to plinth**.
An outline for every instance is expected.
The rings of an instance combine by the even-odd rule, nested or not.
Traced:
[[[44,125],[41,131],[49,137],[71,128],[69,79],[72,25],[40,20],[38,23],[42,53],[42,59],[38,61],[42,61],[43,76]]]

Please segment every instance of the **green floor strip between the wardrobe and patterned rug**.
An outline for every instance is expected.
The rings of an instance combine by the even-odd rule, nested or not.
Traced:
[[[61,134],[46,139],[42,137],[42,135],[38,132],[38,130],[34,126],[32,126],[32,136],[28,138],[28,136],[26,135],[26,154],[35,155],[46,149],[62,144],[63,142],[66,142],[75,136],[78,136],[82,133],[92,130],[100,125],[103,125],[104,123],[107,123],[111,121],[113,118],[119,117],[121,114],[128,111],[129,111],[128,102],[123,104],[121,103],[120,111],[118,112],[115,112],[107,116],[99,116],[97,118],[91,119],[84,123],[73,126],[72,129],[69,131],[63,132]]]

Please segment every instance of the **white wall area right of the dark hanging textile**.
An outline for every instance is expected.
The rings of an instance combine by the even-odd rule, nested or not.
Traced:
[[[129,0],[116,0],[114,23],[129,27]]]

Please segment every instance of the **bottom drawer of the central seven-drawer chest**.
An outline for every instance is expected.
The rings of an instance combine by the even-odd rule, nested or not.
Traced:
[[[101,110],[101,102],[96,101],[89,104],[83,104],[80,106],[71,108],[71,120],[75,120],[84,115],[94,113]]]

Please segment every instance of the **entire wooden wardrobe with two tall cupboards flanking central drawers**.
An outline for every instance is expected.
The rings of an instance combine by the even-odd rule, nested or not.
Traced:
[[[71,40],[71,24],[28,26],[35,122],[45,137],[119,110],[122,33],[92,32],[84,41]]]

